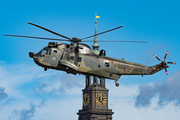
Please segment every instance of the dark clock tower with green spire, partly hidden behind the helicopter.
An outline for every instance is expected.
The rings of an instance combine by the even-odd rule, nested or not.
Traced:
[[[96,15],[96,14],[95,14]],[[99,18],[99,16],[96,18]],[[99,54],[99,45],[97,43],[97,21],[95,19],[95,37],[93,44],[93,51],[95,54]],[[93,78],[93,84],[91,84],[91,76],[86,76],[85,88],[83,91],[83,107],[77,113],[79,115],[78,120],[112,120],[112,110],[108,109],[108,89],[105,87],[105,79]]]

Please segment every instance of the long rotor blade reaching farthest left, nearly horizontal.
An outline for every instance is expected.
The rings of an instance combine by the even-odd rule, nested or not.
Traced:
[[[22,36],[22,35],[4,35],[4,36],[11,36],[11,37],[24,37],[24,38],[35,38],[35,39],[43,39],[43,40],[58,40],[58,41],[69,41],[65,39],[54,39],[54,38],[43,38],[43,37],[31,37],[31,36]]]

